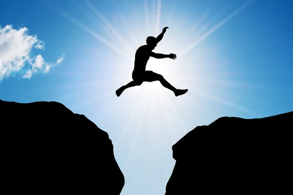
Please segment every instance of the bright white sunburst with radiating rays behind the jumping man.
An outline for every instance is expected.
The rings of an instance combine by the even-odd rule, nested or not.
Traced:
[[[202,96],[217,103],[229,106],[233,109],[258,116],[253,111],[246,109],[241,105],[219,98],[215,94],[211,94],[206,91],[205,83],[210,83],[211,81],[217,82],[217,80],[209,77],[209,75],[205,76],[205,72],[203,71],[203,67],[201,65],[205,64],[207,61],[205,59],[210,57],[210,53],[214,52],[214,48],[201,46],[200,52],[192,55],[190,54],[190,51],[198,46],[199,43],[207,39],[211,34],[215,33],[237,14],[241,13],[253,1],[254,0],[248,0],[233,12],[228,14],[224,19],[219,20],[218,23],[208,29],[208,25],[205,25],[202,22],[209,18],[209,15],[211,15],[209,10],[205,10],[201,17],[194,21],[194,25],[186,27],[183,19],[175,19],[174,13],[176,10],[176,2],[174,2],[173,6],[170,6],[171,8],[168,13],[164,13],[162,10],[164,1],[157,0],[155,4],[150,4],[147,0],[143,0],[141,3],[142,6],[136,8],[136,12],[140,13],[141,16],[133,15],[134,19],[127,18],[121,10],[117,11],[119,23],[121,26],[123,25],[123,30],[121,30],[121,28],[118,30],[119,27],[109,22],[109,20],[103,15],[103,11],[99,10],[94,5],[93,1],[84,0],[84,4],[88,8],[88,12],[91,12],[92,15],[96,17],[94,18],[96,21],[103,23],[107,29],[107,32],[111,33],[115,39],[103,37],[90,27],[84,25],[81,21],[64,12],[61,8],[56,7],[47,1],[48,5],[54,8],[63,17],[68,19],[70,22],[73,22],[78,27],[84,29],[84,31],[89,35],[101,41],[107,47],[112,49],[115,54],[119,55],[119,57],[111,59],[112,62],[114,61],[116,63],[111,64],[107,68],[107,74],[111,75],[110,77],[104,78],[103,81],[97,78],[97,80],[93,80],[92,83],[89,83],[87,80],[80,84],[84,90],[86,90],[86,88],[91,90],[97,82],[107,83],[107,86],[105,86],[105,88],[103,87],[104,91],[102,94],[88,98],[87,101],[82,102],[77,106],[77,108],[93,104],[101,98],[108,98],[111,99],[111,101],[107,101],[107,107],[109,109],[114,110],[119,107],[122,110],[130,110],[128,112],[130,113],[130,116],[125,121],[125,126],[121,127],[121,132],[119,133],[117,140],[117,147],[119,147],[119,144],[122,143],[122,140],[127,139],[130,142],[128,157],[126,158],[127,165],[125,171],[131,167],[130,164],[133,160],[132,155],[136,144],[138,144],[138,137],[142,133],[140,129],[144,129],[143,126],[149,122],[153,122],[155,124],[160,123],[160,121],[166,122],[166,130],[163,129],[161,134],[170,135],[170,137],[173,136],[174,139],[174,134],[176,132],[172,132],[172,130],[170,130],[172,129],[171,124],[173,122],[180,125],[180,129],[182,131],[180,135],[187,133],[188,128],[185,126],[183,116],[179,113],[183,113],[180,110],[188,110],[187,108],[190,105],[195,106],[195,109],[201,108],[204,102],[198,102],[195,99],[196,96]],[[117,1],[117,3],[121,2]],[[116,4],[116,8],[119,8],[119,4]],[[129,15],[131,15],[131,13],[128,13],[128,16]],[[129,20],[138,20],[135,19],[135,17],[143,19],[142,22],[128,22]],[[153,18],[155,18],[155,21],[153,21]],[[164,88],[159,81],[155,81],[151,83],[145,82],[141,86],[128,88],[119,98],[117,98],[115,95],[116,89],[131,81],[131,72],[133,70],[134,54],[136,49],[140,45],[145,44],[147,36],[158,36],[165,26],[168,26],[169,29],[167,29],[167,33],[162,41],[158,43],[158,46],[154,52],[165,54],[175,53],[177,54],[177,59],[150,59],[146,69],[163,75],[164,78],[166,78],[167,81],[176,88],[188,88],[188,93],[182,97],[175,97],[174,94]],[[197,31],[197,33],[200,34],[194,36],[194,31]],[[216,58],[216,56],[214,57]],[[129,128],[129,126],[132,128]],[[152,137],[154,132],[151,132],[150,129],[149,131],[149,134],[147,132],[144,132],[144,134],[148,134],[149,137]],[[127,137],[127,135],[131,135],[131,137]],[[156,136],[160,135],[156,134]]]

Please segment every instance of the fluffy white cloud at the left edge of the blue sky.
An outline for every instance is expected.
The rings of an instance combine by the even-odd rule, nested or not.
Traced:
[[[26,27],[13,29],[11,25],[0,26],[0,80],[20,71],[26,72],[22,78],[31,78],[39,71],[48,73],[65,57],[63,54],[56,63],[48,63],[40,54],[31,56],[33,49],[44,50],[44,42],[37,36],[28,35]]]

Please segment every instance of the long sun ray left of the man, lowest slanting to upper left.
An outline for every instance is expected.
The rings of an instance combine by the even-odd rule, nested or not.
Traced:
[[[65,11],[63,11],[62,9],[54,6],[53,4],[49,3],[47,0],[44,0],[45,3],[47,3],[50,7],[52,7],[55,11],[57,11],[59,14],[61,14],[63,17],[65,17],[67,20],[70,20],[71,22],[73,22],[75,25],[81,27],[84,31],[86,31],[87,33],[89,33],[91,36],[93,36],[94,38],[98,39],[99,41],[101,41],[102,43],[104,43],[105,45],[107,45],[109,48],[111,48],[112,50],[116,51],[118,54],[120,54],[121,56],[125,57],[128,60],[132,61],[132,58],[130,58],[129,55],[127,55],[124,51],[122,51],[121,49],[119,49],[117,46],[115,46],[113,43],[111,43],[110,41],[108,41],[107,39],[105,39],[104,37],[102,37],[101,35],[95,33],[93,30],[91,30],[90,28],[88,28],[87,26],[85,26],[82,22],[80,22],[79,20],[74,19],[73,17],[71,17],[68,13],[66,13]]]

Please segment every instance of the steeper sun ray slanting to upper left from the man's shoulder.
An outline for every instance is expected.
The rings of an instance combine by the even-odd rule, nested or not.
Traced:
[[[112,24],[101,14],[95,6],[89,1],[89,0],[84,0],[84,2],[87,4],[87,6],[103,21],[103,23],[111,30],[111,32],[118,38],[120,39],[125,46],[127,47],[128,51],[131,53],[133,52],[132,46],[124,39],[124,37],[112,26]]]

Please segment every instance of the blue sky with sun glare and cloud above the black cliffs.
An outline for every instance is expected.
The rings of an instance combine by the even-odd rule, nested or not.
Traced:
[[[289,0],[2,0],[0,99],[84,114],[113,142],[122,195],[162,195],[171,146],[188,131],[293,110],[292,9]],[[146,69],[188,93],[156,81],[117,98],[136,49],[165,26],[154,52],[177,59]]]

